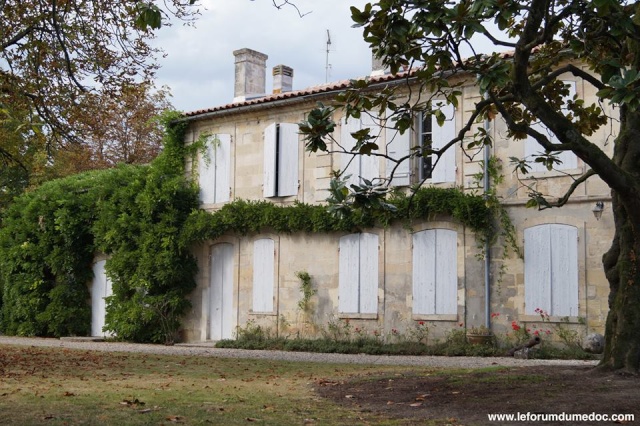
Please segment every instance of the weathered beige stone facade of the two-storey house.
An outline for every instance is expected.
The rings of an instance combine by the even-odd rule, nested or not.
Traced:
[[[372,77],[380,85],[406,82],[401,77],[382,75]],[[575,81],[578,97],[587,101],[595,100],[595,93],[588,85]],[[305,114],[315,107],[316,102],[331,103],[332,96],[345,87],[345,82],[338,82],[320,88],[310,88],[297,92],[278,93],[257,100],[243,101],[206,111],[197,111],[186,115],[190,122],[187,142],[198,139],[203,134],[230,135],[230,162],[227,166],[229,173],[229,200],[264,200],[267,199],[280,205],[290,205],[294,202],[323,203],[328,193],[327,188],[332,171],[342,167],[339,154],[310,154],[304,151],[302,138],[298,137],[297,179],[298,189],[294,195],[264,196],[265,181],[265,139],[267,127],[274,123],[299,123],[305,119]],[[415,90],[416,87],[414,86]],[[455,111],[453,123],[459,130],[462,123],[469,118],[476,102],[481,95],[476,87],[463,85],[460,103]],[[334,121],[337,123],[334,132],[336,141],[341,140],[342,122],[341,112],[336,112]],[[604,126],[592,140],[606,152],[612,151],[612,127]],[[561,209],[536,211],[526,208],[528,200],[527,190],[522,181],[518,180],[510,166],[510,157],[523,157],[525,141],[508,140],[504,136],[506,128],[500,121],[490,123],[490,134],[494,144],[490,148],[490,155],[502,165],[503,180],[495,188],[502,199],[506,210],[515,226],[516,239],[520,249],[533,251],[532,243],[525,243],[527,229],[545,230],[545,225],[560,225],[567,229],[569,235],[577,235],[575,247],[570,242],[568,259],[575,258],[577,282],[572,284],[568,297],[576,299],[569,305],[577,306],[577,311],[570,308],[571,315],[554,315],[551,312],[551,322],[563,321],[569,327],[574,327],[580,333],[602,333],[607,314],[608,284],[605,280],[601,257],[608,249],[613,236],[613,219],[610,215],[609,189],[594,177],[580,185],[572,201]],[[343,136],[344,137],[344,136]],[[383,142],[379,146],[386,146]],[[412,136],[411,144],[417,143],[417,135]],[[334,147],[330,147],[330,150]],[[464,151],[457,147],[452,161],[455,162],[455,177],[450,182],[430,182],[441,187],[460,187],[465,191],[482,193],[474,175],[482,172],[482,152]],[[201,161],[201,159],[200,159]],[[581,160],[575,161],[575,167],[561,172],[535,172],[524,182],[536,185],[540,192],[562,195],[573,178],[583,173],[587,166]],[[568,163],[573,164],[573,163]],[[198,179],[197,165],[189,164],[189,173]],[[381,176],[385,176],[387,165],[380,160],[376,165]],[[411,164],[410,181],[418,181],[418,164]],[[226,169],[225,169],[226,170]],[[206,184],[201,182],[201,185]],[[603,201],[604,214],[596,220],[592,207],[597,201]],[[216,210],[221,203],[203,204],[202,208]],[[542,227],[536,228],[538,225]],[[554,228],[555,229],[555,228]],[[413,236],[424,230],[449,230],[455,235],[455,308],[446,314],[415,314],[413,292]],[[444,336],[452,328],[474,326],[491,322],[492,328],[498,333],[510,331],[512,321],[518,321],[525,327],[549,328],[549,323],[541,322],[537,314],[532,314],[533,306],[526,306],[527,300],[539,299],[534,290],[525,290],[525,277],[532,272],[525,269],[524,259],[517,256],[513,250],[508,250],[498,241],[490,250],[490,300],[486,300],[485,291],[485,261],[481,258],[481,248],[473,232],[460,223],[447,217],[432,218],[412,224],[412,229],[403,225],[393,225],[388,228],[363,230],[377,238],[377,306],[374,312],[340,312],[339,295],[341,237],[343,234],[293,234],[277,235],[265,230],[259,235],[237,236],[228,235],[217,241],[209,241],[194,248],[194,253],[200,264],[198,288],[193,292],[191,302],[193,309],[184,322],[184,336],[188,341],[203,341],[215,339],[218,332],[215,329],[219,321],[219,312],[225,318],[226,337],[233,337],[237,327],[245,327],[250,321],[268,327],[280,334],[319,335],[322,330],[328,330],[330,324],[337,324],[349,319],[352,327],[390,335],[397,330],[399,333],[408,332],[417,321],[426,321],[432,325],[432,335]],[[434,234],[435,235],[435,234]],[[533,235],[533,234],[528,234]],[[273,262],[269,260],[269,271],[273,271],[273,280],[269,277],[269,286],[265,294],[273,298],[268,312],[254,312],[256,286],[260,280],[254,276],[257,260],[254,259],[255,242],[268,239],[273,243]],[[229,275],[231,282],[228,289],[232,291],[231,308],[221,308],[212,301],[212,286],[217,279],[216,271],[211,268],[212,250],[217,244],[230,244],[232,252]],[[506,250],[506,253],[505,253]],[[554,249],[555,251],[555,249]],[[560,259],[564,259],[560,255]],[[572,257],[573,256],[573,257]],[[557,262],[557,261],[556,261]],[[572,261],[573,262],[573,261]],[[562,265],[560,265],[562,266]],[[262,266],[261,266],[262,268]],[[303,313],[298,303],[301,300],[300,280],[296,272],[306,271],[312,279],[316,293],[311,298],[310,314]],[[553,271],[552,271],[553,272]],[[550,272],[550,273],[552,273]],[[572,271],[564,271],[570,276]],[[265,291],[265,290],[260,290]],[[527,291],[529,293],[527,294]],[[546,290],[543,290],[543,292]],[[564,297],[565,293],[558,293]],[[553,300],[550,307],[557,312],[563,312],[564,301]],[[551,308],[550,308],[551,309]],[[214,312],[215,311],[215,312]],[[217,313],[216,313],[217,312]],[[488,312],[493,313],[487,318]],[[495,315],[499,314],[499,315]],[[231,331],[229,331],[231,330]],[[229,334],[231,333],[231,334]],[[224,334],[224,333],[223,333]],[[225,336],[222,336],[225,337]]]

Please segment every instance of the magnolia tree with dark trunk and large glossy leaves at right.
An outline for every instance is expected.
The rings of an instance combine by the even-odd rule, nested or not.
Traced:
[[[423,90],[412,98],[394,97],[393,90],[371,91],[367,82],[354,82],[341,95],[338,105],[347,117],[367,111],[389,116],[385,125],[398,131],[412,126],[413,113],[439,109],[430,99],[455,104],[459,92],[452,86],[456,73],[475,79],[483,100],[475,105],[461,131],[439,149],[417,149],[414,156],[441,158],[445,151],[464,140],[471,146],[491,144],[490,135],[478,123],[500,117],[512,143],[533,138],[540,145],[535,160],[552,169],[565,151],[571,151],[589,169],[574,179],[566,194],[545,197],[532,191],[530,205],[561,207],[575,189],[592,176],[599,176],[612,190],[615,236],[603,256],[610,284],[606,347],[601,366],[637,373],[640,368],[640,2],[617,0],[380,0],[362,10],[351,8],[355,26],[392,73],[411,69]],[[494,51],[475,50],[489,42]],[[582,61],[589,67],[573,64]],[[600,103],[569,99],[569,90],[559,80],[572,74],[593,86]],[[607,116],[600,105],[610,103],[616,116]],[[301,123],[307,149],[326,151],[335,124],[332,108],[319,106]],[[443,117],[439,117],[443,120]],[[611,158],[590,140],[594,132],[616,120],[620,130]],[[549,132],[540,131],[542,123]],[[353,133],[357,143],[352,154],[372,154],[376,135],[368,129]],[[464,148],[468,148],[466,145]],[[381,154],[379,154],[381,155]],[[437,160],[436,160],[437,161]],[[517,160],[519,173],[530,165]],[[344,181],[344,180],[343,180]],[[332,186],[338,207],[388,208],[385,191],[376,182]]]

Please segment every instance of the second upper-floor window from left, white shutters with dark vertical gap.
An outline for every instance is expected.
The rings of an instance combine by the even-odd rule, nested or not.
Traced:
[[[264,130],[264,196],[298,194],[298,125],[273,123]]]

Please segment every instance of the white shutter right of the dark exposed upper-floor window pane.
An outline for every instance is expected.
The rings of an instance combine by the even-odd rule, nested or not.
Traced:
[[[451,104],[445,104],[440,107],[440,111],[445,115],[445,122],[442,126],[438,125],[435,115],[432,116],[431,133],[432,146],[434,149],[440,149],[453,138],[456,137],[456,121],[455,109]],[[436,164],[436,156],[433,156],[433,164],[435,167],[431,175],[433,183],[455,182],[456,180],[456,150],[455,147],[449,148]]]

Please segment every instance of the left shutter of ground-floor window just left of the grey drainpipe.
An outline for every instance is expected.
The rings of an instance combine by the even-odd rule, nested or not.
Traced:
[[[413,313],[436,313],[436,233],[413,234]]]

